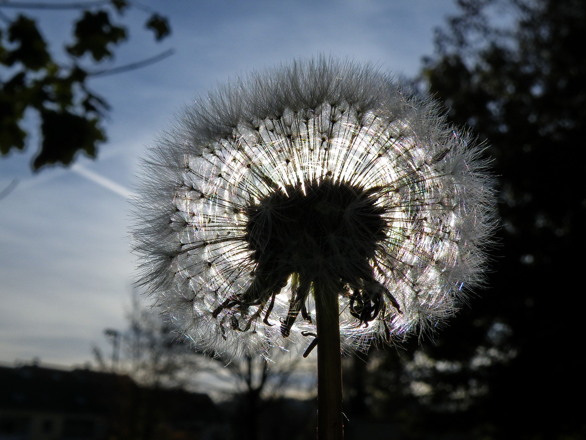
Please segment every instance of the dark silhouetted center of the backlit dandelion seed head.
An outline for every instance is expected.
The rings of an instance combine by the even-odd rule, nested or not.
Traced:
[[[387,229],[373,192],[326,179],[284,187],[248,207],[256,275],[362,278]]]

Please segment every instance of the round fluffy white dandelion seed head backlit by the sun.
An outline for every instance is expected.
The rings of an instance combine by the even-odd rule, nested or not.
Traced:
[[[493,193],[479,152],[372,66],[251,73],[149,150],[141,282],[200,350],[317,336],[319,381],[336,376],[340,341],[432,329],[481,281]]]

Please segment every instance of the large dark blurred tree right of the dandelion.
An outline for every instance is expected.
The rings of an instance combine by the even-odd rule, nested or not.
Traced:
[[[433,341],[372,351],[372,411],[413,422],[406,438],[586,438],[586,2],[458,5],[424,77],[490,145],[500,243],[488,289]]]

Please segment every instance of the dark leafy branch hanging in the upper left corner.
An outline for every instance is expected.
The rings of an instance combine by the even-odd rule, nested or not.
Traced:
[[[169,35],[166,18],[151,9],[128,0],[67,2],[0,2],[0,153],[23,150],[26,130],[22,123],[27,111],[40,117],[40,149],[32,161],[33,170],[45,165],[68,165],[79,151],[96,157],[96,147],[105,141],[101,122],[107,102],[88,88],[93,76],[135,69],[169,54],[165,52],[131,65],[91,72],[82,63],[97,65],[113,59],[115,50],[127,40],[127,27],[116,23],[132,6],[148,13],[145,27],[156,40]],[[79,10],[73,23],[72,40],[63,53],[53,56],[37,21],[8,9]],[[66,62],[59,61],[66,57]]]

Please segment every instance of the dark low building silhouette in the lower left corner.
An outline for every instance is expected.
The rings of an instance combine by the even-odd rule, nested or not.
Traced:
[[[210,439],[221,430],[207,394],[87,368],[0,366],[0,440]]]

